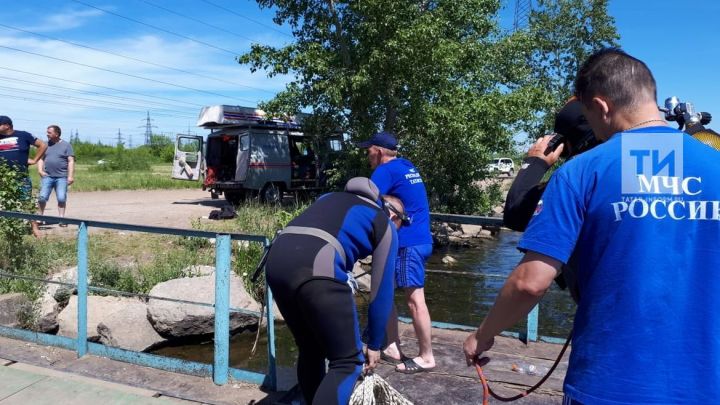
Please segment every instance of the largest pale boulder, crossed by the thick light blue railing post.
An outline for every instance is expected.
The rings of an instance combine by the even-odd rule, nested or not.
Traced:
[[[250,297],[240,277],[230,276],[230,307],[260,311],[260,304]],[[215,276],[178,278],[153,287],[153,297],[171,298],[183,301],[215,303]],[[193,304],[150,299],[148,316],[153,327],[163,336],[183,337],[206,335],[214,332],[214,308]],[[253,315],[231,312],[230,330],[257,325]]]

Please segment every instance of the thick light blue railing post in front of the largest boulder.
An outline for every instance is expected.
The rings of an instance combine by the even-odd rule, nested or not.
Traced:
[[[215,238],[215,361],[213,382],[228,381],[230,361],[230,235]]]

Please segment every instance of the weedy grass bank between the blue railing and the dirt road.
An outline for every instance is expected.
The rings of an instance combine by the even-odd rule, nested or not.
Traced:
[[[231,221],[195,221],[193,228],[216,233],[246,233],[265,235],[269,239],[277,230],[300,213],[306,205],[269,207],[248,202],[238,208],[238,217]],[[22,237],[22,247],[0,240],[0,258],[23,260],[0,261],[0,271],[38,279],[45,279],[58,271],[77,265],[77,245],[74,237],[48,236],[35,239]],[[19,253],[20,252],[20,253]],[[250,281],[263,253],[260,243],[235,242],[232,245],[232,270],[242,277],[246,290],[262,302],[265,280]],[[215,244],[204,238],[186,238],[136,232],[107,231],[89,237],[88,265],[90,285],[128,293],[147,294],[157,284],[188,276],[191,266],[215,265]],[[21,292],[36,301],[44,283],[0,277],[0,293]],[[106,295],[91,292],[95,295]],[[33,309],[34,310],[34,309]],[[32,325],[34,312],[26,322]]]

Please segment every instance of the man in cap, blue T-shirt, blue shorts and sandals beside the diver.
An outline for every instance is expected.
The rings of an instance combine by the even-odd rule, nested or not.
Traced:
[[[397,311],[388,322],[388,347],[383,359],[398,363],[396,371],[414,374],[435,367],[431,346],[430,312],[425,304],[425,262],[432,254],[430,207],[425,184],[409,160],[397,157],[397,139],[389,132],[379,132],[370,140],[357,144],[367,149],[372,181],[380,194],[398,197],[405,205],[409,225],[398,230],[399,249],[395,266],[395,285],[405,290],[410,315],[418,339],[418,357],[405,358],[400,352]]]

